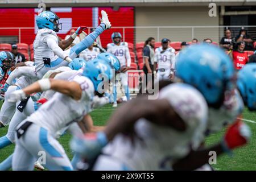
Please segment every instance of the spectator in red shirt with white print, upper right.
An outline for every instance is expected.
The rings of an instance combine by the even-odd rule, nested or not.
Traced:
[[[233,51],[233,63],[234,67],[239,70],[248,62],[247,53],[243,50],[245,49],[245,42],[239,42],[236,51]]]

